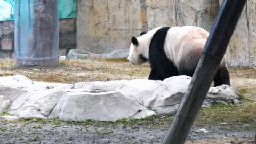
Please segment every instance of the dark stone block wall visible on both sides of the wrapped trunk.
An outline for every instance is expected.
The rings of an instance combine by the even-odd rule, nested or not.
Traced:
[[[59,20],[60,55],[76,48],[76,18]],[[0,59],[14,57],[14,21],[0,21]]]

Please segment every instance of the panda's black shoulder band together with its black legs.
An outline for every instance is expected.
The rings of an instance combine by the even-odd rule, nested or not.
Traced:
[[[156,31],[149,45],[149,63],[151,71],[148,79],[163,80],[171,76],[188,75],[193,76],[195,68],[180,68],[177,69],[175,64],[170,61],[164,51],[165,38],[170,27],[163,27]],[[186,60],[187,61],[187,60]],[[183,62],[186,62],[183,61]],[[227,67],[221,66],[214,77],[214,85],[222,84],[230,85],[229,72]]]

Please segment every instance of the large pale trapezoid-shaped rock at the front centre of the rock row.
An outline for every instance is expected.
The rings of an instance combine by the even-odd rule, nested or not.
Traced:
[[[142,113],[142,114],[140,114]],[[98,119],[101,121],[151,116],[155,112],[143,107],[138,101],[116,91],[83,92],[69,91],[62,95],[51,117],[60,119]]]

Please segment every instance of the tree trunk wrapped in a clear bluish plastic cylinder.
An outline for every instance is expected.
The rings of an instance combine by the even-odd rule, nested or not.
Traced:
[[[58,66],[58,0],[16,0],[15,8],[15,65]]]

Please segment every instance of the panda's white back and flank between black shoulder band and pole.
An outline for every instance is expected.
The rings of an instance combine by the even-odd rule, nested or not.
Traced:
[[[177,68],[181,65],[181,58],[196,57],[189,60],[198,61],[208,36],[209,33],[199,27],[171,27],[167,32],[164,44],[167,58],[176,63]],[[191,63],[197,62],[190,61],[187,64],[182,62],[182,67],[191,67]]]

